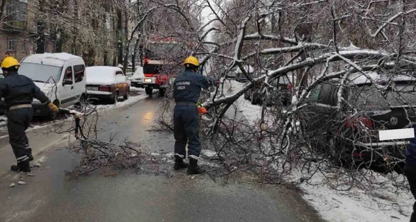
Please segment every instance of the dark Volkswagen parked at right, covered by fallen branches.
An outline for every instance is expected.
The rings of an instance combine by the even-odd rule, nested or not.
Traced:
[[[369,74],[383,87],[385,76]],[[386,170],[390,162],[398,162],[390,167],[400,172],[403,169],[404,152],[408,142],[405,139],[379,141],[379,130],[409,128],[416,121],[416,96],[413,77],[395,76],[393,82],[399,90],[403,103],[397,92],[382,95],[376,85],[365,76],[352,76],[342,94],[349,105],[343,104],[340,117],[338,105],[339,81],[323,83],[315,87],[310,94],[311,104],[306,108],[306,131],[314,132],[309,137],[315,148],[333,153],[333,157],[343,164],[372,164],[372,167]],[[351,108],[357,109],[357,113]]]

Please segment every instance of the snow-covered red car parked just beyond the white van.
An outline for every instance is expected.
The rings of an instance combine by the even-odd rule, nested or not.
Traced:
[[[128,77],[119,67],[87,67],[86,88],[89,99],[110,100],[112,104],[130,94]]]

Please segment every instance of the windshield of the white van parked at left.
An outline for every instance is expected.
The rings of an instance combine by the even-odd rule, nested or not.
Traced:
[[[19,74],[31,78],[34,82],[58,83],[62,73],[62,67],[41,65],[22,62],[19,67]]]

